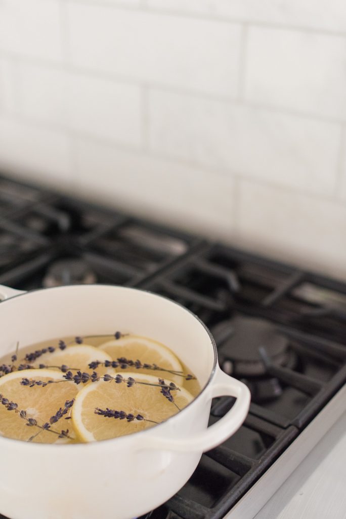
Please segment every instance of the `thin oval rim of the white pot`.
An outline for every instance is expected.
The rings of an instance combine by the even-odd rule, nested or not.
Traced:
[[[31,443],[31,442],[24,442],[22,440],[17,440],[15,438],[6,438],[6,436],[0,436],[0,445],[2,443],[7,444],[8,442],[10,442],[10,444],[12,444],[12,442],[16,442],[17,446],[19,446],[19,445],[21,445],[21,446],[27,445],[28,448],[33,448],[33,449],[35,449],[35,448],[40,448],[40,449],[46,448],[47,449],[48,448],[49,450],[51,450],[52,448],[54,448],[54,449],[62,449],[62,448],[70,449],[70,448],[74,448],[74,450],[76,450],[76,448],[78,448],[78,449],[82,449],[82,448],[89,448],[89,449],[90,448],[94,448],[94,449],[96,449],[96,448],[100,448],[100,446],[102,446],[103,444],[109,445],[110,442],[114,442],[114,441],[117,441],[118,443],[119,442],[122,442],[122,443],[131,442],[131,441],[134,441],[134,440],[132,440],[133,438],[139,438],[139,437],[142,438],[142,436],[144,434],[149,434],[153,430],[157,431],[158,428],[160,428],[160,427],[162,428],[162,426],[167,424],[168,421],[172,421],[173,419],[175,419],[181,413],[185,413],[186,414],[186,410],[191,408],[197,400],[200,400],[202,398],[202,394],[205,393],[207,388],[210,386],[211,380],[212,380],[212,378],[213,378],[213,376],[215,374],[215,371],[217,370],[217,366],[218,366],[218,362],[217,362],[217,360],[218,360],[218,350],[217,350],[217,347],[216,347],[216,344],[215,344],[215,340],[214,340],[213,336],[211,335],[210,330],[205,325],[205,323],[203,321],[201,321],[198,316],[196,316],[196,314],[194,312],[192,312],[191,310],[189,310],[188,308],[185,308],[180,303],[177,303],[176,301],[173,301],[173,299],[170,299],[169,297],[166,297],[164,295],[156,294],[155,292],[152,292],[150,290],[135,288],[133,286],[110,285],[110,284],[107,284],[107,283],[90,283],[90,284],[51,286],[49,288],[39,288],[39,289],[30,290],[30,291],[27,291],[27,292],[25,291],[23,293],[20,293],[20,294],[8,297],[7,299],[3,299],[3,301],[0,302],[0,305],[3,305],[4,303],[7,303],[8,301],[12,301],[13,299],[16,299],[17,297],[28,296],[28,295],[30,295],[30,294],[32,294],[34,292],[46,292],[46,291],[51,291],[51,290],[63,290],[63,289],[66,289],[66,288],[70,288],[70,289],[72,289],[72,288],[89,288],[91,286],[96,287],[96,288],[99,288],[100,286],[108,286],[109,288],[115,288],[115,289],[121,288],[123,290],[131,290],[131,291],[134,291],[134,292],[144,292],[146,294],[153,295],[155,297],[160,297],[162,299],[166,299],[170,303],[175,304],[177,306],[180,306],[184,311],[189,312],[199,322],[199,324],[201,324],[204,327],[205,331],[209,335],[210,342],[211,342],[211,345],[212,345],[212,348],[213,348],[213,356],[214,356],[213,357],[213,365],[212,365],[212,369],[211,369],[209,378],[208,378],[205,386],[200,390],[200,392],[198,393],[196,398],[194,398],[188,405],[186,405],[186,407],[181,409],[181,411],[179,411],[175,415],[170,416],[167,420],[165,420],[165,421],[161,422],[160,424],[157,424],[157,425],[155,425],[153,427],[150,427],[149,429],[145,429],[145,430],[142,430],[142,431],[134,432],[132,434],[126,434],[124,436],[118,436],[118,438],[109,438],[107,440],[99,440],[99,441],[88,442],[88,443],[73,443],[73,444]],[[1,306],[0,306],[0,309],[1,309]],[[30,447],[29,447],[29,445],[30,445]]]

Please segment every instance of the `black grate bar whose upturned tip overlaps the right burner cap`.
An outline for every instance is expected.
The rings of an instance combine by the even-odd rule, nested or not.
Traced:
[[[273,364],[267,356],[265,348],[259,348],[259,352],[266,366],[267,373],[277,377],[284,384],[292,386],[311,397],[314,397],[323,388],[324,384],[314,378]]]

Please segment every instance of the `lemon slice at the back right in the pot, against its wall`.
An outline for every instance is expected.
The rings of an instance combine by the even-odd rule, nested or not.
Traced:
[[[156,364],[165,370],[174,372],[183,372],[182,365],[179,360],[166,346],[156,342],[156,340],[141,337],[140,335],[125,335],[120,339],[113,339],[107,343],[100,344],[98,348],[108,353],[113,360],[124,357],[136,361],[140,360],[142,364]],[[130,366],[128,370],[121,367],[116,368],[118,372],[126,373],[128,370],[136,373],[147,373],[161,378],[169,378],[177,384],[182,384],[183,377],[167,371],[154,371],[146,368],[135,369]]]

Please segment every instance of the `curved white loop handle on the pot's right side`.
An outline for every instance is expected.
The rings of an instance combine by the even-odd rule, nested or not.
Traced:
[[[145,447],[176,450],[179,452],[205,452],[224,442],[232,436],[246,418],[250,406],[250,391],[239,380],[226,375],[217,368],[215,378],[210,388],[210,399],[215,397],[236,397],[233,407],[207,430],[188,438],[160,438],[148,436]],[[144,440],[144,439],[143,439]]]

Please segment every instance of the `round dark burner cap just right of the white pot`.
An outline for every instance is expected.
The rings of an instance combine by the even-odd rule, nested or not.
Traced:
[[[289,339],[262,319],[236,316],[213,329],[221,365],[228,374],[254,376],[265,374],[258,348],[263,346],[272,362],[287,365]]]

